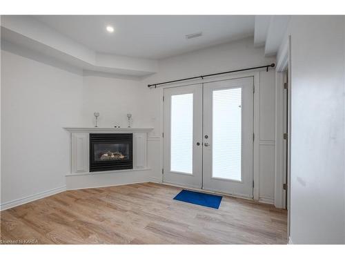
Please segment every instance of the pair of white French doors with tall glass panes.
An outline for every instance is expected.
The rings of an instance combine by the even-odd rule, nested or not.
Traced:
[[[164,182],[253,198],[253,77],[164,98]]]

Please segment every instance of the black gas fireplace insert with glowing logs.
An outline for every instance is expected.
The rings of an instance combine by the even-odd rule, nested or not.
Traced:
[[[133,134],[90,134],[90,172],[133,168]]]

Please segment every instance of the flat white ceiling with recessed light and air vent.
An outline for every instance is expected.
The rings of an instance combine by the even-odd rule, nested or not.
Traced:
[[[34,16],[96,52],[162,59],[254,35],[255,16]],[[115,28],[112,34],[106,26]],[[202,32],[201,37],[185,35]]]

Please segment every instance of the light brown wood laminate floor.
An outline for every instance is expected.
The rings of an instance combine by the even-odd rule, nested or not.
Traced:
[[[65,191],[1,212],[2,242],[286,244],[286,211],[224,196],[219,209],[179,202],[180,188],[144,183]]]

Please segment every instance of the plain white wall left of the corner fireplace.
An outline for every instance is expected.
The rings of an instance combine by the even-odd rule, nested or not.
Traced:
[[[81,75],[1,50],[1,205],[63,188]]]

